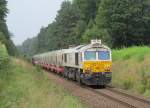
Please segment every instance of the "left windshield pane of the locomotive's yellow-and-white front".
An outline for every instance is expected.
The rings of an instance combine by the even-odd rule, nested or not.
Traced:
[[[96,52],[95,51],[86,51],[84,53],[85,60],[96,60]]]

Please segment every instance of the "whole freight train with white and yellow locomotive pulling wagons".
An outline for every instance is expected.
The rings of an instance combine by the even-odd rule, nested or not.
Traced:
[[[80,84],[105,86],[112,79],[111,50],[101,40],[35,55],[32,62]]]

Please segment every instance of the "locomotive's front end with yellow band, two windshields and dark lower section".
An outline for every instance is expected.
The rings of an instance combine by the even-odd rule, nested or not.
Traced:
[[[111,82],[111,50],[95,42],[83,52],[83,82],[87,85],[106,85]]]

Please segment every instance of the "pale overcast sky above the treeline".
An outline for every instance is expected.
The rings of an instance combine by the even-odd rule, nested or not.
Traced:
[[[64,0],[7,0],[7,25],[16,45],[36,36],[42,26],[54,21]]]

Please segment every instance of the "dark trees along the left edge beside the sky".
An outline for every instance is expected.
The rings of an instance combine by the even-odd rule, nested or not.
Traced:
[[[6,17],[7,17],[7,1],[0,0],[0,43],[4,44],[8,50],[9,55],[17,55],[17,48],[11,40],[12,34],[9,32]]]

